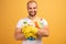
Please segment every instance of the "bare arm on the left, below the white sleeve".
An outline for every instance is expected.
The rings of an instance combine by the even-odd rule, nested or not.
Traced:
[[[22,31],[21,31],[20,28],[15,28],[14,37],[15,37],[15,40],[18,40],[18,41],[25,40],[25,37],[24,37],[24,35],[23,35],[23,33],[22,33]]]

